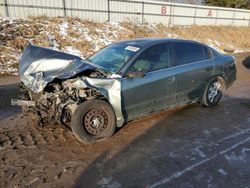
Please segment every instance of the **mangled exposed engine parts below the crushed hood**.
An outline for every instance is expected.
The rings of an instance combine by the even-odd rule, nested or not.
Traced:
[[[91,76],[97,77],[98,74],[93,72]],[[104,96],[95,89],[74,87],[72,82],[75,80],[55,80],[40,93],[31,92],[22,84],[20,99],[35,101],[34,106],[24,105],[23,109],[36,114],[39,125],[44,126],[49,122],[59,122],[69,126],[72,114],[78,104],[93,98],[104,99]]]

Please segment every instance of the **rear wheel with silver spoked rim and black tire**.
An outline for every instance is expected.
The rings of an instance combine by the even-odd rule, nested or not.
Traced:
[[[222,82],[218,78],[212,79],[203,93],[201,103],[207,107],[217,105],[223,94],[222,88]]]

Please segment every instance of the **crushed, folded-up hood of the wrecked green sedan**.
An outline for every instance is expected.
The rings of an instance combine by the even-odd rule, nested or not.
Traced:
[[[96,68],[78,56],[29,45],[21,56],[19,76],[31,91],[39,93],[55,78],[67,79]]]

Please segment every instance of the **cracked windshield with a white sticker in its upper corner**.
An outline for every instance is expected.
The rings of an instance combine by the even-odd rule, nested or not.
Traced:
[[[87,61],[117,73],[138,50],[139,48],[135,46],[114,44],[101,49]]]

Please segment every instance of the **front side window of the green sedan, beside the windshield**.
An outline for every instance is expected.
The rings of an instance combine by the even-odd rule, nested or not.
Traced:
[[[139,55],[129,72],[152,72],[160,69],[169,68],[171,66],[170,45],[156,44],[147,48]]]

